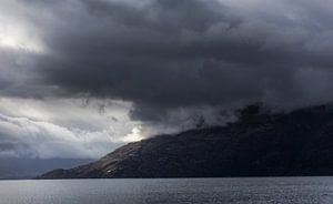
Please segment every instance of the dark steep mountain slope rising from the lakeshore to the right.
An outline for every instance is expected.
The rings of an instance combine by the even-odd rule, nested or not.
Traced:
[[[333,175],[333,110],[262,114],[221,128],[127,144],[101,160],[39,178]]]

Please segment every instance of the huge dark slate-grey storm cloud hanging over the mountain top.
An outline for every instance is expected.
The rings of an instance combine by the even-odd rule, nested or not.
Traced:
[[[37,18],[50,49],[38,60],[43,82],[69,95],[132,101],[135,119],[195,105],[332,100],[333,9],[324,0],[249,9],[251,1],[23,2],[52,13]]]

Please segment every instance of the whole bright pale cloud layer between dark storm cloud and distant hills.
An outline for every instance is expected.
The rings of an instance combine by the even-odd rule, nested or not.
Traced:
[[[98,159],[141,140],[128,105],[113,102],[100,113],[97,101],[1,99],[0,159]]]

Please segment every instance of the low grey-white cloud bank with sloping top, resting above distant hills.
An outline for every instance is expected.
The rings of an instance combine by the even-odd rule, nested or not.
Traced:
[[[103,130],[89,132],[0,114],[0,157],[97,159],[120,144]]]

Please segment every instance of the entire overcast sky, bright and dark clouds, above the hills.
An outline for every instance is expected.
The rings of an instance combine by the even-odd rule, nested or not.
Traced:
[[[0,156],[95,159],[256,101],[326,103],[332,67],[331,0],[1,0]]]

